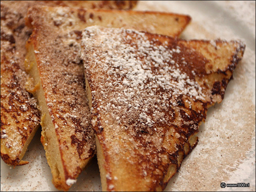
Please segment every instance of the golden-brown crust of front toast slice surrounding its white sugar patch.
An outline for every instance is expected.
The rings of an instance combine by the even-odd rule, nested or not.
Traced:
[[[106,30],[106,28],[100,28],[101,30]],[[113,32],[113,31],[112,31]],[[96,34],[96,38],[97,38],[97,33],[95,31],[93,31],[92,33]],[[114,32],[113,32],[114,33]],[[90,33],[88,33],[88,36]],[[94,37],[95,37],[94,34]],[[114,36],[118,35],[114,33]],[[100,55],[100,51],[101,51],[101,47],[97,44],[92,45],[90,44],[89,47],[87,47],[86,51],[84,51],[82,53],[82,58],[85,62],[85,68],[86,68],[86,80],[88,81],[88,84],[90,86],[90,90],[92,92],[94,92],[94,94],[92,94],[92,96],[90,96],[90,94],[88,95],[88,97],[92,99],[92,122],[93,123],[93,128],[94,131],[96,132],[96,135],[98,137],[98,140],[100,142],[100,147],[97,146],[97,150],[102,150],[102,153],[104,154],[104,166],[102,166],[102,168],[104,168],[104,172],[106,172],[108,174],[108,176],[105,175],[106,177],[106,184],[102,184],[105,186],[105,188],[103,188],[103,190],[108,190],[108,191],[119,191],[119,190],[135,190],[135,191],[140,191],[140,190],[147,190],[147,191],[158,191],[158,190],[164,190],[164,188],[166,187],[166,185],[168,184],[168,181],[170,180],[170,178],[175,174],[175,172],[178,172],[181,162],[182,160],[192,151],[192,149],[196,146],[196,144],[198,143],[198,138],[196,137],[196,134],[198,132],[198,127],[200,126],[200,124],[205,120],[206,118],[206,113],[207,113],[207,109],[214,105],[215,102],[221,102],[224,98],[224,92],[226,90],[226,86],[228,84],[228,82],[230,81],[230,79],[232,78],[232,72],[234,71],[234,68],[236,67],[236,65],[238,64],[239,60],[242,59],[242,56],[244,54],[244,48],[245,45],[242,44],[241,42],[238,41],[230,41],[230,42],[226,42],[223,40],[216,40],[216,41],[205,41],[205,40],[191,40],[191,41],[185,41],[185,40],[178,40],[178,39],[173,39],[170,38],[168,36],[161,36],[161,35],[155,35],[155,34],[150,34],[148,32],[145,32],[145,35],[153,41],[157,39],[157,41],[160,42],[164,42],[164,41],[168,41],[168,44],[174,44],[174,45],[178,45],[180,47],[180,50],[182,50],[183,46],[185,46],[186,48],[190,49],[192,52],[192,55],[195,55],[195,57],[189,57],[188,55],[184,56],[185,59],[189,57],[190,60],[192,60],[193,65],[198,65],[198,66],[188,66],[191,67],[191,69],[194,69],[195,72],[195,76],[196,76],[196,81],[197,82],[204,82],[205,80],[208,80],[209,82],[206,83],[204,82],[204,84],[202,84],[202,86],[206,89],[206,98],[204,98],[204,100],[195,100],[194,105],[196,106],[201,106],[200,108],[200,112],[196,112],[195,116],[193,116],[193,113],[189,113],[186,110],[189,110],[190,112],[193,110],[191,110],[190,108],[188,108],[188,106],[186,106],[184,103],[184,97],[180,98],[179,103],[179,108],[182,109],[183,111],[186,111],[190,118],[192,120],[195,120],[197,122],[196,124],[196,129],[194,130],[190,130],[189,128],[186,128],[186,126],[176,126],[174,127],[173,125],[170,126],[169,128],[174,128],[176,132],[178,132],[181,136],[179,139],[179,141],[177,142],[175,140],[175,142],[177,142],[177,148],[178,150],[176,150],[176,152],[169,154],[169,160],[170,162],[168,164],[157,164],[155,165],[156,169],[161,169],[161,174],[160,176],[158,176],[157,174],[152,174],[150,176],[150,180],[152,181],[150,184],[148,184],[147,186],[144,186],[145,183],[142,182],[141,179],[141,175],[139,175],[137,173],[137,169],[140,169],[140,166],[142,163],[145,163],[147,165],[152,164],[152,162],[149,162],[148,160],[145,160],[145,162],[140,162],[140,164],[138,162],[136,162],[136,158],[134,158],[134,164],[129,164],[128,168],[124,168],[124,170],[122,171],[123,177],[127,175],[130,175],[130,171],[132,170],[133,173],[133,178],[126,178],[126,180],[122,180],[123,183],[122,185],[120,185],[120,183],[118,183],[118,180],[113,180],[113,177],[116,176],[116,173],[118,171],[120,171],[120,169],[122,169],[122,167],[126,166],[126,161],[123,161],[123,157],[120,158],[120,156],[123,156],[124,154],[122,154],[120,152],[120,154],[112,154],[110,148],[110,146],[106,146],[106,142],[107,140],[114,140],[115,137],[112,137],[109,135],[108,130],[111,130],[113,128],[109,128],[107,123],[104,123],[104,120],[106,120],[104,118],[104,116],[107,116],[107,112],[104,111],[104,114],[102,114],[102,110],[98,110],[98,108],[100,108],[100,106],[103,105],[104,108],[104,103],[99,102],[99,99],[102,99],[101,97],[98,96],[98,93],[101,90],[106,91],[107,88],[102,88],[100,85],[101,84],[97,84],[98,83],[98,79],[104,79],[101,76],[96,78],[96,74],[97,75],[102,75],[104,74],[104,72],[95,72],[97,70],[91,70],[94,68],[97,68],[97,66],[99,66],[98,70],[100,70],[100,67],[102,67],[100,65],[100,63],[97,63],[97,66],[94,66],[94,60],[100,60],[99,58],[97,58],[96,56],[92,56],[92,54],[96,54],[96,55]],[[129,36],[131,36],[129,34]],[[108,36],[107,36],[108,37]],[[104,38],[106,38],[104,36]],[[136,40],[132,41],[133,43],[136,42]],[[95,43],[95,42],[94,42]],[[93,43],[93,44],[94,44]],[[216,44],[216,45],[214,45]],[[98,51],[98,49],[100,49]],[[172,48],[170,48],[172,49]],[[91,51],[91,50],[95,50],[95,51]],[[96,51],[97,50],[97,51]],[[106,51],[106,48],[102,48],[102,50]],[[107,51],[106,51],[107,52]],[[86,53],[86,54],[85,54]],[[223,54],[222,54],[223,53]],[[197,56],[196,56],[197,55]],[[92,56],[92,57],[91,57]],[[204,60],[204,64],[201,66],[200,64],[200,60],[198,60],[198,58],[203,57],[205,58]],[[109,61],[111,62],[111,61]],[[199,65],[200,64],[200,65]],[[92,65],[92,66],[90,66]],[[214,66],[212,66],[214,65]],[[201,68],[204,68],[204,70],[202,70]],[[186,71],[186,69],[185,69]],[[189,73],[189,72],[187,72]],[[109,78],[109,76],[106,77],[106,79]],[[97,79],[97,80],[96,80]],[[115,80],[112,80],[113,82]],[[97,83],[96,83],[97,82]],[[106,82],[106,84],[108,83],[108,81]],[[216,85],[218,84],[218,86]],[[102,88],[102,89],[101,89]],[[108,93],[106,93],[108,94]],[[100,94],[99,94],[100,95]],[[107,103],[109,103],[108,98],[104,98],[106,99]],[[96,110],[97,109],[97,110]],[[110,109],[109,109],[110,110]],[[195,111],[194,111],[195,112]],[[123,113],[120,114],[120,116]],[[180,112],[180,114],[182,115],[182,112]],[[201,116],[200,116],[201,115]],[[188,122],[190,120],[190,118],[187,118],[185,116],[183,116],[183,119],[185,122]],[[107,119],[109,122],[115,122],[116,120],[112,120],[112,119]],[[126,121],[128,121],[128,118],[125,119]],[[123,126],[123,123],[121,123],[121,125]],[[114,126],[118,126],[118,125],[114,125]],[[162,131],[162,130],[161,130]],[[114,134],[114,133],[113,133]],[[166,133],[165,133],[166,134]],[[188,138],[188,140],[185,140],[184,138]],[[171,140],[169,140],[171,142]],[[138,143],[142,143],[142,140],[138,140]],[[122,146],[122,142],[113,142],[112,144],[121,144]],[[125,148],[122,148],[121,150],[126,150]],[[151,152],[152,156],[154,151]],[[159,152],[161,153],[161,152]],[[120,155],[120,156],[118,156]],[[138,156],[140,154],[137,154]],[[180,155],[180,157],[179,157]],[[118,164],[116,162],[116,158],[120,158],[118,161],[120,161],[120,164]],[[139,159],[142,159],[144,157],[140,156]],[[102,160],[100,160],[102,161]],[[113,163],[115,162],[115,163]],[[176,171],[173,172],[171,175],[168,176],[168,178],[166,178],[166,175],[168,174],[168,170],[170,168],[170,166],[174,166]],[[161,168],[160,168],[161,167]],[[151,171],[150,168],[148,168],[148,170]],[[125,174],[124,174],[125,172]],[[120,176],[120,175],[119,175]],[[134,178],[136,178],[134,180]],[[118,178],[119,179],[119,178]],[[105,180],[105,178],[104,178]],[[131,185],[130,182],[134,182],[133,185]],[[136,183],[138,182],[138,183]],[[143,184],[140,184],[143,183]],[[123,187],[124,186],[124,187]]]

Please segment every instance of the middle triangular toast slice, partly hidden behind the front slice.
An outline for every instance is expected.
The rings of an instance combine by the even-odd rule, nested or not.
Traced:
[[[96,148],[80,59],[82,29],[97,24],[178,36],[189,20],[158,12],[30,8],[27,24],[33,33],[26,66],[34,79],[31,92],[41,108],[41,141],[56,188],[68,190]],[[164,27],[168,22],[174,28]]]

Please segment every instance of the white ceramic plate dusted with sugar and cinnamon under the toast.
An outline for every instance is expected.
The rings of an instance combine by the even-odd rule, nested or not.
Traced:
[[[185,39],[239,38],[246,43],[244,58],[223,102],[208,111],[199,129],[198,145],[182,162],[166,191],[255,191],[255,1],[141,1],[136,9],[190,15],[192,22],[181,36]],[[58,191],[51,182],[40,130],[24,160],[30,163],[10,169],[1,159],[1,191]],[[250,187],[222,189],[221,182],[250,183]],[[70,191],[100,190],[95,158]]]

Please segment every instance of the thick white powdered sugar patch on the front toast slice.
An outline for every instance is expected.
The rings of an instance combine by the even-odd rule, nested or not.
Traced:
[[[96,34],[98,38],[95,40]],[[144,33],[124,29],[102,31],[92,26],[86,28],[83,35],[85,50],[93,49],[93,60],[108,71],[106,84],[98,84],[103,87],[98,93],[99,98],[107,98],[106,92],[112,90],[109,102],[96,110],[111,109],[115,113],[123,108],[132,113],[135,109],[142,127],[152,127],[159,119],[168,121],[168,117],[159,118],[164,115],[161,111],[177,106],[178,97],[186,95],[204,100],[202,87],[179,67],[179,62],[185,62],[178,60],[179,46],[170,48],[165,44],[157,45],[156,40],[148,40]],[[129,44],[134,38],[138,42]],[[97,52],[94,46],[99,46],[103,51]],[[140,60],[142,57],[146,60]],[[86,65],[86,68],[90,69],[90,66]],[[92,91],[92,97],[94,93]],[[152,115],[149,115],[150,112]],[[116,115],[114,119],[124,120]]]

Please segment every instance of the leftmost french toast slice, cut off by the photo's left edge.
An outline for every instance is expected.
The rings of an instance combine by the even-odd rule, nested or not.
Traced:
[[[36,132],[40,113],[36,100],[26,91],[24,70],[26,41],[31,29],[25,26],[30,6],[71,6],[76,8],[130,9],[137,1],[1,1],[1,158],[8,165],[22,161]]]

